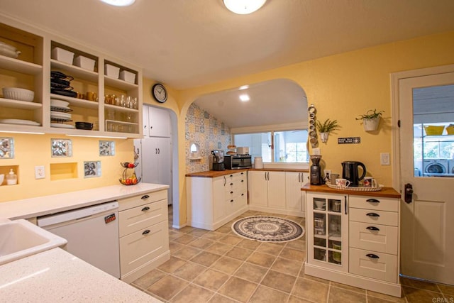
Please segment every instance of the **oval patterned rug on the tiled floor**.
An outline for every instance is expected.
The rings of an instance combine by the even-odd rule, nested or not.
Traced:
[[[232,230],[238,236],[261,242],[288,242],[304,235],[301,225],[275,216],[248,216],[235,221]]]

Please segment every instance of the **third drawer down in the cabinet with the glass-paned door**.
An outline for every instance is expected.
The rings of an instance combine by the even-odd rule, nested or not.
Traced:
[[[350,221],[350,247],[397,255],[399,231],[396,226]]]

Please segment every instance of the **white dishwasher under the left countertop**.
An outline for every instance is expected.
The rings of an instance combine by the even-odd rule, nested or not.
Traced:
[[[118,202],[40,216],[38,226],[65,238],[68,253],[120,278]]]

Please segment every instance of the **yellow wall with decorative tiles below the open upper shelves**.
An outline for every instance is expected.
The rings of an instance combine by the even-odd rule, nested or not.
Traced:
[[[14,138],[15,155],[13,159],[0,159],[0,173],[7,173],[13,167],[18,175],[18,184],[0,187],[0,202],[48,194],[74,192],[111,184],[120,184],[123,174],[120,162],[134,160],[133,141],[126,139],[100,139],[68,137],[63,135],[26,135],[1,133],[0,137]],[[52,158],[51,139],[70,139],[72,157]],[[99,140],[114,141],[115,156],[99,156]],[[101,161],[101,177],[84,177],[84,161]],[[50,164],[76,163],[77,176],[63,180],[50,180]],[[44,165],[45,178],[35,180],[35,165]],[[70,165],[63,165],[70,167]],[[54,174],[55,176],[55,174]]]

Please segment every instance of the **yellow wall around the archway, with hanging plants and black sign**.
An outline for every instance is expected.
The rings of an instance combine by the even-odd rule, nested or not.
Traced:
[[[380,184],[392,185],[392,165],[380,165],[380,153],[392,153],[390,74],[423,67],[454,63],[454,32],[430,35],[411,40],[355,50],[317,60],[300,62],[275,70],[230,79],[224,82],[180,92],[179,108],[179,180],[180,224],[184,224],[186,207],[184,182],[184,116],[197,97],[224,89],[240,87],[270,79],[287,78],[297,82],[306,92],[308,104],[315,104],[317,118],[337,119],[340,131],[331,134],[327,143],[320,143],[326,168],[341,171],[344,160],[365,163],[370,175]],[[377,133],[366,133],[355,117],[368,109],[384,110]],[[360,144],[338,145],[338,137],[360,136]],[[391,161],[394,155],[391,155]]]

